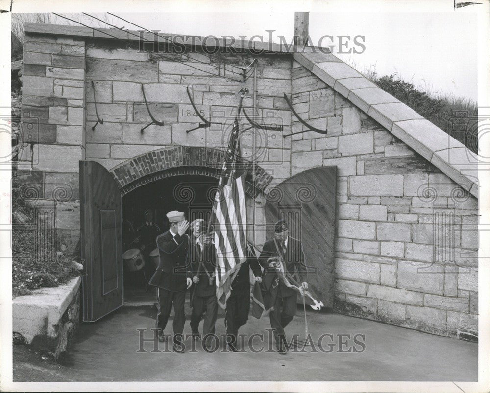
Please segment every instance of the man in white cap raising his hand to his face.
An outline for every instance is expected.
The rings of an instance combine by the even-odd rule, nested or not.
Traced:
[[[156,328],[158,340],[165,340],[163,333],[169,320],[172,305],[173,317],[173,347],[182,352],[181,336],[185,324],[184,302],[186,290],[192,285],[191,265],[188,261],[190,239],[185,233],[189,222],[180,211],[167,213],[170,229],[156,238],[160,251],[160,264],[149,284],[157,287],[158,313]]]

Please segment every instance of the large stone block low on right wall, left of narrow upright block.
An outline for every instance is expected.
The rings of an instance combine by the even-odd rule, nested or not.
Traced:
[[[398,263],[397,286],[425,293],[442,295],[444,269],[423,262],[400,261]]]

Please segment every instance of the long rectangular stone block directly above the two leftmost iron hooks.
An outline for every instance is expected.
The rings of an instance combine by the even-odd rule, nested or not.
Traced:
[[[158,82],[158,66],[150,62],[87,58],[86,74],[88,80]]]

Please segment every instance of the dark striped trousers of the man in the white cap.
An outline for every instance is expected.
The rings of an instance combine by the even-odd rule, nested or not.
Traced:
[[[163,288],[157,288],[158,312],[156,315],[156,328],[159,334],[163,334],[167,322],[169,321],[170,312],[173,305],[173,334],[182,334],[185,324],[185,290],[184,291],[167,291]],[[174,341],[175,338],[174,338]]]

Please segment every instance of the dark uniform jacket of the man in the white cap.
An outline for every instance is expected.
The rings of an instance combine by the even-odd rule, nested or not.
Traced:
[[[187,288],[186,278],[191,278],[189,261],[189,236],[166,231],[156,238],[160,250],[160,264],[149,284],[167,291],[178,292]]]

